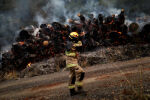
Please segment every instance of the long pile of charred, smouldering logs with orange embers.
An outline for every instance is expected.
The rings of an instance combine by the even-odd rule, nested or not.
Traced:
[[[31,63],[63,54],[70,32],[80,34],[79,39],[83,43],[83,47],[79,48],[80,52],[101,46],[150,42],[150,24],[145,25],[138,35],[128,34],[137,32],[139,25],[137,23],[132,23],[129,27],[125,25],[123,9],[117,17],[112,15],[105,18],[102,14],[99,14],[98,18],[94,18],[92,14],[88,19],[81,14],[78,14],[78,17],[79,20],[69,19],[70,25],[53,22],[51,25],[41,24],[40,28],[21,30],[11,50],[2,55],[1,70],[21,71],[30,67]]]

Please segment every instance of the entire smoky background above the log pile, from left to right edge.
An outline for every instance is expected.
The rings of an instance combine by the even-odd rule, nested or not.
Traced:
[[[86,17],[118,14],[125,8],[130,19],[149,15],[149,0],[0,0],[0,51],[8,49],[21,27],[53,21],[66,24],[77,13]]]

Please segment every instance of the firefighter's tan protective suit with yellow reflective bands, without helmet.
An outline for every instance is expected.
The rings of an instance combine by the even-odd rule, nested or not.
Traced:
[[[78,41],[78,43],[73,43],[73,47],[71,50],[66,51],[66,65],[70,70],[70,79],[69,79],[69,89],[74,90],[75,86],[82,87],[83,79],[84,79],[84,70],[78,64],[78,52],[76,51],[76,47],[82,46],[82,42]]]

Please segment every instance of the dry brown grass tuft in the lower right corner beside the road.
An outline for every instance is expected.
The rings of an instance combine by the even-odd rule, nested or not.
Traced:
[[[118,97],[114,97],[114,100],[150,100],[150,94],[144,92],[143,68],[141,66],[137,75],[138,79],[134,81],[126,77],[129,88],[124,88]]]

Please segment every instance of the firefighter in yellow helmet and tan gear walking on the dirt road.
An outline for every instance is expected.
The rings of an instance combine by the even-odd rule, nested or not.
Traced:
[[[66,54],[66,65],[67,69],[70,70],[69,75],[69,84],[68,88],[70,89],[70,95],[74,96],[78,93],[83,93],[83,79],[85,72],[78,64],[78,52],[76,47],[81,47],[82,42],[78,40],[79,34],[77,32],[72,32],[69,35],[69,41],[67,41],[67,50]],[[78,92],[75,91],[77,87]]]

